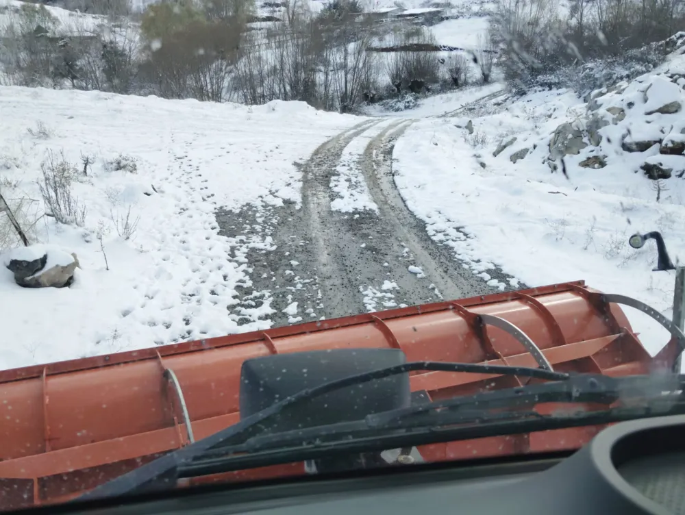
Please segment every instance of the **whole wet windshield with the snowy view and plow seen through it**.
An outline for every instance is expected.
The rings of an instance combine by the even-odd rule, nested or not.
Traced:
[[[0,0],[0,511],[570,452],[653,408],[685,346],[684,22]]]

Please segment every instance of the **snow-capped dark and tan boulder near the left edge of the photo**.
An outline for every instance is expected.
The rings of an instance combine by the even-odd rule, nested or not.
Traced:
[[[75,253],[43,245],[14,249],[5,266],[14,273],[16,284],[24,288],[70,286],[76,268],[80,268]]]

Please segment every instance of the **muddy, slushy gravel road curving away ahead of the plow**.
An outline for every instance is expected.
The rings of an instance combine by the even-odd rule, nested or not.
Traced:
[[[273,220],[273,246],[246,256],[251,287],[234,310],[238,323],[265,302],[277,327],[499,291],[432,240],[397,190],[393,147],[414,121],[364,121],[300,165],[301,209],[290,204],[260,215]],[[217,221],[232,236],[255,216],[220,212]]]

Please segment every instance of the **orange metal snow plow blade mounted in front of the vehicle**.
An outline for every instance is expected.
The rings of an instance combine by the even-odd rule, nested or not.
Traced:
[[[410,362],[546,363],[561,372],[611,376],[672,366],[675,340],[651,357],[611,298],[618,296],[577,281],[0,371],[0,510],[73,499],[236,423],[242,362],[253,357],[353,347],[401,349]],[[410,384],[412,392],[437,400],[521,383],[503,375],[416,372]],[[427,462],[562,451],[581,447],[599,429],[464,440],[419,451]],[[300,473],[303,464],[292,464],[220,479]],[[217,477],[203,478],[211,479]]]

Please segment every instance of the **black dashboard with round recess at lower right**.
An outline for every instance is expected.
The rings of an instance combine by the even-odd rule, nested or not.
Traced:
[[[685,416],[616,424],[572,455],[366,470],[23,513],[685,515]]]

